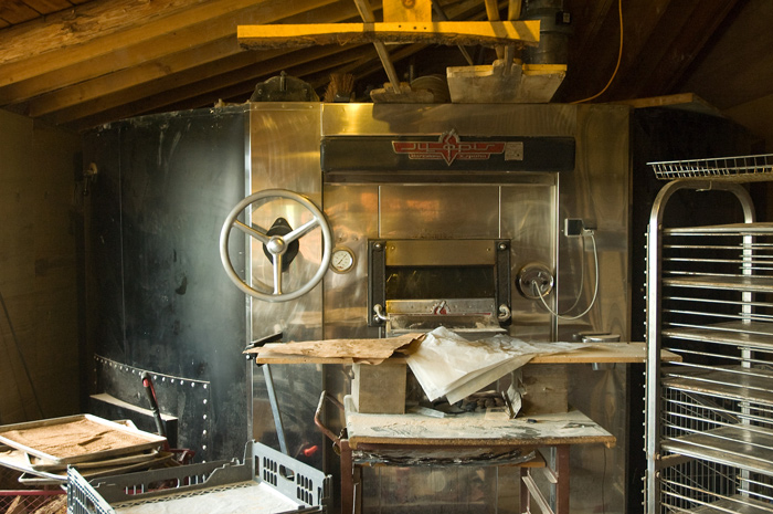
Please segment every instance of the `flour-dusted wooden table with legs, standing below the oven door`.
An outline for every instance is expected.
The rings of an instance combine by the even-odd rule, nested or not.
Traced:
[[[346,437],[333,434],[319,419],[322,402],[328,399],[343,410]],[[341,458],[341,512],[357,512],[357,496],[362,480],[361,468],[371,465],[368,455],[409,455],[421,459],[436,457],[438,449],[446,454],[483,455],[480,465],[518,465],[521,487],[520,512],[531,512],[532,501],[540,512],[569,514],[570,448],[574,444],[602,443],[613,447],[615,437],[575,409],[568,412],[536,415],[510,419],[502,410],[470,412],[436,418],[421,413],[361,413],[350,396],[343,405],[322,392],[315,422],[339,449]],[[551,458],[546,462],[539,449]],[[473,450],[473,453],[470,453]],[[511,461],[489,461],[489,454],[510,451],[517,455],[533,455],[513,464]],[[533,452],[533,453],[531,453]],[[443,454],[443,453],[441,453]],[[372,459],[372,457],[370,457]],[[386,461],[389,458],[386,458]],[[382,462],[383,463],[383,462]],[[426,461],[424,462],[426,464]],[[405,465],[404,461],[399,465]],[[543,469],[554,484],[554,510],[532,479],[532,470]]]

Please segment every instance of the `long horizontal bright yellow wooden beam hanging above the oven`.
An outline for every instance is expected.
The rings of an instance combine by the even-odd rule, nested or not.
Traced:
[[[307,23],[239,25],[239,43],[252,50],[316,44],[434,43],[494,46],[516,43],[537,46],[540,22],[435,21],[430,23]]]

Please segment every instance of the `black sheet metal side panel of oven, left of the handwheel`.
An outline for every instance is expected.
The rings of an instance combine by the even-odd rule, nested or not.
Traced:
[[[115,340],[118,331],[108,325],[100,333],[112,337],[97,339],[95,350],[133,368],[209,382],[211,405],[201,411],[184,408],[186,401],[161,410],[181,419],[179,441],[198,460],[240,457],[250,437],[244,296],[222,280],[218,239],[244,196],[243,109],[148,116],[103,130],[119,134],[108,137],[119,167],[113,159],[97,162],[104,175],[94,195],[119,211],[95,217],[94,240],[118,237],[120,244],[98,256],[97,274],[105,273],[104,319],[119,319],[123,334]],[[110,293],[117,276],[120,303]],[[136,389],[114,392],[145,406],[139,376]]]

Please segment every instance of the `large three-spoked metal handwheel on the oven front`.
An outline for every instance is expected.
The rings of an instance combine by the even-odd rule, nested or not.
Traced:
[[[313,219],[296,229],[289,229],[287,225],[288,230],[279,231],[276,231],[275,229],[263,231],[263,229],[252,227],[252,223],[245,224],[236,219],[239,214],[241,214],[242,211],[244,211],[251,204],[258,201],[269,201],[275,198],[293,200],[296,203],[299,203],[311,213]],[[277,221],[279,220],[285,222],[283,219],[278,219]],[[277,223],[275,222],[275,225]],[[231,264],[231,256],[229,255],[229,237],[232,228],[236,228],[251,238],[255,238],[262,242],[265,253],[272,258],[274,284],[273,287],[266,285],[266,289],[273,289],[272,293],[264,293],[251,286],[241,276],[239,276],[239,274],[236,274],[236,271],[233,269],[233,264]],[[305,283],[301,287],[292,292],[283,291],[282,272],[285,268],[284,259],[288,254],[290,245],[316,228],[319,228],[322,231],[324,246],[322,261],[320,262],[317,272],[311,280]],[[325,272],[330,264],[331,249],[332,235],[330,233],[330,225],[325,219],[322,211],[320,211],[308,198],[286,189],[266,189],[246,197],[229,213],[225,222],[223,223],[223,229],[220,232],[220,259],[223,262],[225,273],[240,290],[253,297],[264,300],[266,302],[287,302],[303,296],[311,291],[314,286],[316,286],[320,280],[322,280],[322,275],[325,275]],[[289,265],[289,263],[287,263],[287,265]]]

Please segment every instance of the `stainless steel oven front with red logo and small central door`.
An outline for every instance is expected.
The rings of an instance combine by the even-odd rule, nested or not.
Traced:
[[[248,127],[250,191],[307,197],[331,238],[329,269],[307,294],[251,300],[252,339],[277,332],[284,340],[388,337],[441,324],[527,340],[586,333],[627,339],[626,107],[253,104]],[[284,218],[294,229],[307,222],[305,211],[292,200],[261,200],[251,221],[267,228]],[[595,254],[572,223],[593,230]],[[283,269],[286,291],[314,279],[322,239],[311,232],[298,240],[299,258]],[[248,243],[248,276],[271,293],[275,263],[258,245]],[[309,452],[322,444],[308,422],[319,391],[347,394],[348,371],[272,368],[286,443]],[[620,441],[620,450],[573,455],[585,472],[575,476],[605,483],[607,512],[625,504],[625,373],[578,366],[571,376],[572,402]],[[276,431],[267,398],[256,374],[258,439]],[[396,480],[375,473],[378,483]],[[574,487],[579,508],[585,491],[597,487]]]

